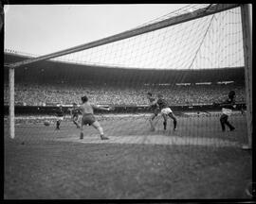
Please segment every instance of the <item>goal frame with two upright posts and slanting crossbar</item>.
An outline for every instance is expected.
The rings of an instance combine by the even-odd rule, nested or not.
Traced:
[[[252,144],[252,6],[251,4],[216,4],[210,5],[208,8],[199,8],[192,12],[181,14],[162,20],[146,26],[140,26],[132,30],[128,30],[117,35],[113,35],[99,41],[88,42],[79,46],[71,47],[59,52],[51,53],[34,59],[27,59],[9,64],[9,136],[15,138],[15,113],[14,113],[14,70],[21,66],[34,63],[40,60],[57,58],[73,52],[82,51],[92,47],[100,46],[110,42],[117,42],[123,39],[128,39],[143,33],[151,32],[167,26],[174,26],[184,22],[192,21],[197,18],[202,18],[214,13],[225,11],[231,8],[241,8],[242,30],[243,30],[243,46],[245,59],[245,81],[247,94],[247,147],[251,148]]]

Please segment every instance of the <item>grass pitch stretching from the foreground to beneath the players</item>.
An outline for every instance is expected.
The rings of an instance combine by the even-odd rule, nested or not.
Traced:
[[[109,141],[70,121],[55,130],[40,120],[16,120],[15,139],[5,121],[5,199],[250,198],[251,153],[246,116],[233,115],[222,132],[219,115],[178,117],[150,131],[145,115],[101,116]],[[26,121],[26,122],[24,122]]]

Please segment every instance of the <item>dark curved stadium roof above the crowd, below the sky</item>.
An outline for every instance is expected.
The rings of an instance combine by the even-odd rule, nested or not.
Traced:
[[[5,64],[28,59],[26,56],[5,53]],[[5,67],[5,81],[8,80],[8,68]],[[234,81],[244,83],[244,67],[201,70],[155,70],[105,68],[81,64],[45,60],[19,67],[15,70],[16,82],[40,83],[198,83]]]

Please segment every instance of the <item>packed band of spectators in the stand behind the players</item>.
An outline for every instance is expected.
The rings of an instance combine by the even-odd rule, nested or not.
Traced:
[[[147,105],[146,93],[162,93],[170,105],[211,104],[222,101],[230,90],[236,92],[236,101],[245,102],[245,86],[190,85],[190,86],[111,86],[111,85],[70,85],[70,84],[15,84],[15,104],[45,106],[54,104],[80,103],[86,94],[91,102],[109,105]],[[9,87],[5,84],[4,102],[9,103]]]

